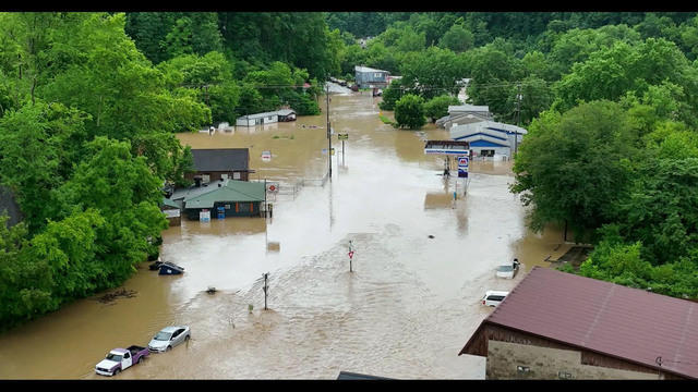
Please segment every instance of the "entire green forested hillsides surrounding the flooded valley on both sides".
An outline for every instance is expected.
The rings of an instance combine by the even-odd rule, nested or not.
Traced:
[[[0,224],[0,326],[157,254],[160,189],[191,166],[174,133],[317,114],[354,65],[402,76],[381,107],[419,111],[407,127],[470,78],[468,103],[529,130],[512,189],[533,229],[595,245],[586,275],[695,298],[697,58],[696,13],[0,14],[0,184],[24,216]]]

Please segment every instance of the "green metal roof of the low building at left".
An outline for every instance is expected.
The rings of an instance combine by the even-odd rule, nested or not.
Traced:
[[[220,184],[220,186],[218,186]],[[226,180],[208,185],[209,192],[184,198],[184,208],[213,208],[217,201],[264,201],[264,183]]]

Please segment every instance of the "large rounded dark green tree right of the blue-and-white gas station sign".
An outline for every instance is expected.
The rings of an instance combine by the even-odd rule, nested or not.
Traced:
[[[514,164],[514,193],[532,205],[531,225],[568,222],[582,234],[609,222],[613,203],[624,195],[633,136],[622,108],[594,101],[532,122]],[[563,189],[563,192],[561,192]]]

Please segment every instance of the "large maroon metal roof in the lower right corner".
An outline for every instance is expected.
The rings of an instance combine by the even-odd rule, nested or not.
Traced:
[[[698,304],[689,301],[534,267],[459,355],[485,324],[698,378]]]

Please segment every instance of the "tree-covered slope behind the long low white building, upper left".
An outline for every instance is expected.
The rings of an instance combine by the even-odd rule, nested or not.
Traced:
[[[281,106],[317,114],[317,81],[339,68],[341,38],[322,13],[134,12],[125,32],[168,87],[209,107],[214,122]]]

